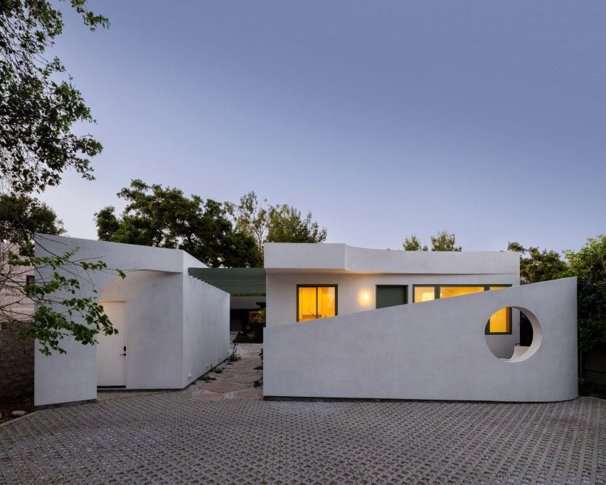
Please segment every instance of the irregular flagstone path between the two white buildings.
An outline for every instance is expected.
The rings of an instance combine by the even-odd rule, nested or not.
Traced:
[[[240,360],[225,361],[191,385],[191,398],[202,401],[249,400],[262,397],[263,371],[260,352],[262,343],[238,343],[236,354]],[[220,370],[220,372],[216,372]]]

